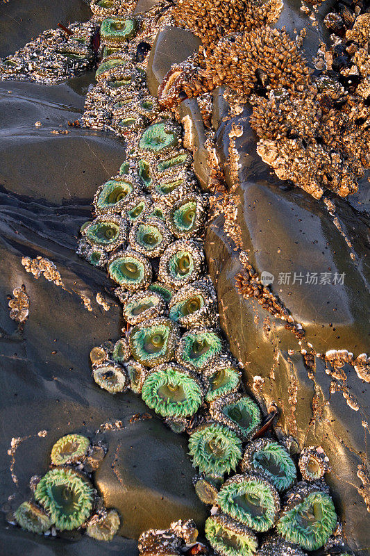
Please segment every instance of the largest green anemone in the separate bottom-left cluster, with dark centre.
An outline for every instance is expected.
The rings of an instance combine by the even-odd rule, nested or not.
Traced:
[[[51,469],[35,489],[35,499],[61,531],[76,529],[86,521],[93,496],[90,481],[70,468]]]

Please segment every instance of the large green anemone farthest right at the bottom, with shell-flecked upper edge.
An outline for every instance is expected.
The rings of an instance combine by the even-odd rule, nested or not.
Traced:
[[[329,494],[318,484],[300,482],[287,493],[276,528],[285,540],[305,550],[317,550],[328,541],[336,525],[337,514]]]

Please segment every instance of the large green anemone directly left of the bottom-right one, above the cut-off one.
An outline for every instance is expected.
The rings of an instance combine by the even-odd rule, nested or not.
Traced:
[[[255,531],[274,527],[280,510],[278,491],[259,475],[234,475],[219,490],[221,511]]]

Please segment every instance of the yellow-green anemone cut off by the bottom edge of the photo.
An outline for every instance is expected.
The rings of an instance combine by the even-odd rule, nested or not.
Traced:
[[[258,548],[253,531],[224,514],[205,521],[205,537],[219,556],[253,556]]]

